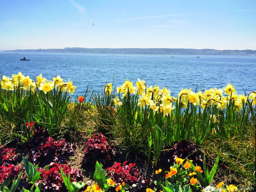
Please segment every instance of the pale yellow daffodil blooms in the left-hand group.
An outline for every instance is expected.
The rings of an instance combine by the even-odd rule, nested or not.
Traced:
[[[76,88],[73,86],[73,83],[70,80],[64,83],[62,81],[63,79],[60,78],[59,75],[57,77],[53,77],[53,81],[48,81],[46,78],[42,77],[42,74],[40,74],[38,77],[36,77],[36,80],[37,82],[30,79],[29,75],[25,77],[21,72],[19,72],[17,75],[12,74],[11,78],[3,75],[1,80],[1,88],[13,91],[17,87],[20,87],[20,89],[23,90],[31,89],[32,91],[35,91],[35,89],[38,87],[38,89],[44,91],[45,94],[54,88],[57,88],[58,91],[73,94]]]

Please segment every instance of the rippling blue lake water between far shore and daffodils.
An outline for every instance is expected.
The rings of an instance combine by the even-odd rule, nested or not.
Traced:
[[[238,94],[256,90],[255,56],[200,56],[195,55],[114,55],[114,54],[58,54],[58,53],[0,53],[0,71],[11,77],[22,72],[30,78],[42,73],[48,78],[60,75],[63,81],[75,81],[80,95],[90,84],[95,91],[114,80],[120,86],[128,78],[136,86],[137,78],[147,86],[167,86],[176,96],[181,88],[195,91],[231,83]],[[20,61],[26,57],[30,61]]]

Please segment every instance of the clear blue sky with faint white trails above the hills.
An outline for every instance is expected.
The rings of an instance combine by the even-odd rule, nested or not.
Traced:
[[[0,26],[0,50],[256,49],[256,1],[0,0]]]

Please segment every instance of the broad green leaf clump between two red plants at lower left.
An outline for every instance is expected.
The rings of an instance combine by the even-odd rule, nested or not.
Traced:
[[[34,166],[30,163],[26,157],[22,157],[26,175],[29,178],[30,183],[34,184],[40,177],[41,172],[37,171],[38,165]]]

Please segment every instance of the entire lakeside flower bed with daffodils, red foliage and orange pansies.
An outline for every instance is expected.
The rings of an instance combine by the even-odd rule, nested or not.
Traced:
[[[71,95],[57,76],[2,76],[0,191],[255,189],[256,92],[136,86]]]

